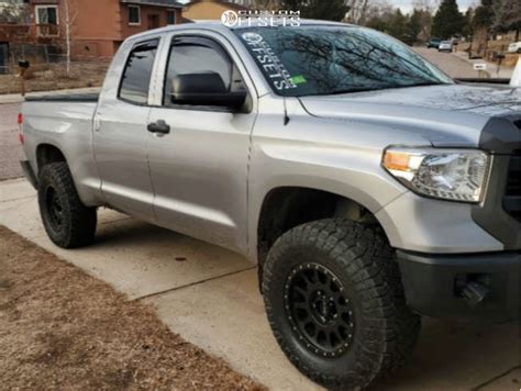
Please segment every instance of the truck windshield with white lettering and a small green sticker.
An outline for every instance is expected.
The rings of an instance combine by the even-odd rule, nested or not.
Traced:
[[[357,26],[237,29],[276,93],[333,94],[453,81],[388,35]]]

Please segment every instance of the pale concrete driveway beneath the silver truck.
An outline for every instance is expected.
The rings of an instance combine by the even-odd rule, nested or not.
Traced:
[[[42,227],[35,191],[0,182],[0,224],[154,305],[175,333],[276,390],[313,390],[271,336],[255,266],[236,254],[101,210],[95,245],[55,247]],[[514,325],[463,326],[425,319],[408,367],[386,390],[518,390],[520,334]]]

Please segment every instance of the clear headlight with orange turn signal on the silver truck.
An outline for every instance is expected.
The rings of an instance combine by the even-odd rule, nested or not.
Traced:
[[[443,200],[479,202],[489,157],[476,149],[387,148],[384,167],[412,191]]]

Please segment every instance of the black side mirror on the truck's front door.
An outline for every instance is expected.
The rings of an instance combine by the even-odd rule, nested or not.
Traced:
[[[171,80],[171,102],[192,105],[218,105],[239,109],[246,91],[230,92],[219,74],[185,74]]]

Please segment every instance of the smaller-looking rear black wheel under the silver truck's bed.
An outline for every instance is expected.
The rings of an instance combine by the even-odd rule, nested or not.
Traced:
[[[38,180],[38,204],[45,231],[57,246],[74,248],[93,242],[96,208],[82,204],[66,163],[43,167]]]

